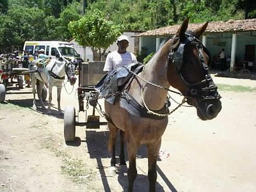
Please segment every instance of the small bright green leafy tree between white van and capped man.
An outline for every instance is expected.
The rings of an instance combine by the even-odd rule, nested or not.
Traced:
[[[79,45],[92,49],[93,60],[101,60],[106,49],[122,34],[124,28],[105,19],[100,10],[90,10],[81,19],[70,22],[68,29]]]

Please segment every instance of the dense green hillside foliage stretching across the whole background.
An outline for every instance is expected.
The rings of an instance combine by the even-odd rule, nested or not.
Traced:
[[[22,47],[25,40],[69,40],[68,23],[81,19],[83,8],[141,31],[186,17],[191,22],[256,18],[255,0],[0,0],[0,49]]]

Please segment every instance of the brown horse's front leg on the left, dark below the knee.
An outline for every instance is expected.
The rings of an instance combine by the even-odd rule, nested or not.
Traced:
[[[129,138],[127,139],[127,150],[128,150],[128,159],[129,159],[129,168],[128,168],[128,191],[131,192],[133,188],[134,180],[137,177],[137,169],[136,169],[136,154],[137,154],[137,145],[134,142],[131,142]]]

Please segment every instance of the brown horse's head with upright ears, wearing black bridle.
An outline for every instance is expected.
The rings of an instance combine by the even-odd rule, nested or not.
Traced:
[[[198,40],[208,22],[195,31],[187,31],[188,20],[184,20],[176,35],[169,40],[166,77],[186,97],[188,104],[195,106],[202,120],[211,120],[221,110],[221,97],[208,72],[209,52]]]

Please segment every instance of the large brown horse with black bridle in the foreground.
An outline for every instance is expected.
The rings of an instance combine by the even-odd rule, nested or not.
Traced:
[[[109,149],[112,150],[111,166],[116,164],[115,143],[120,129],[120,164],[125,164],[124,141],[127,142],[129,191],[132,191],[136,179],[136,154],[141,144],[146,144],[148,148],[149,189],[156,190],[156,162],[161,137],[168,124],[166,98],[170,86],[180,91],[184,102],[195,106],[202,120],[215,118],[221,110],[221,97],[208,72],[209,52],[198,40],[208,22],[195,31],[187,31],[188,21],[184,20],[176,35],[161,47],[141,72],[134,74],[115,104],[105,101],[110,131]],[[127,98],[127,103],[137,103],[135,106],[140,106],[147,114],[142,110],[139,116],[131,115],[122,107],[122,101]]]

